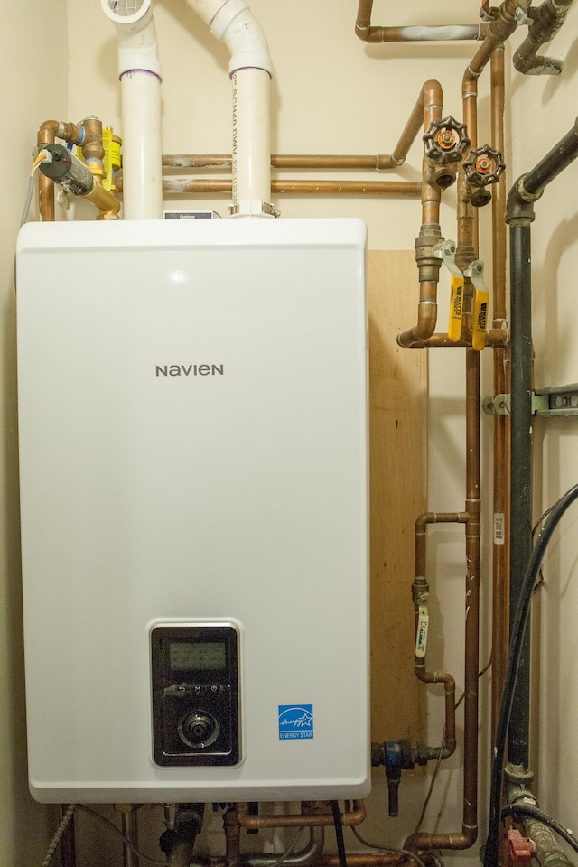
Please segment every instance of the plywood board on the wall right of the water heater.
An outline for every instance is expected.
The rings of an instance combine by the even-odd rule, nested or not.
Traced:
[[[401,349],[415,323],[415,255],[368,258],[371,490],[371,740],[424,738],[414,674],[415,518],[425,510],[427,350]]]

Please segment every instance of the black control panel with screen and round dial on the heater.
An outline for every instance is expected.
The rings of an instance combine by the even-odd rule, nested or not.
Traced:
[[[238,764],[238,629],[155,626],[151,672],[156,764]]]

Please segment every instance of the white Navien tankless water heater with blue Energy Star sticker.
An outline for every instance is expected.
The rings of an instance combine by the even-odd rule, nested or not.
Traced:
[[[368,793],[365,227],[29,224],[30,785]]]

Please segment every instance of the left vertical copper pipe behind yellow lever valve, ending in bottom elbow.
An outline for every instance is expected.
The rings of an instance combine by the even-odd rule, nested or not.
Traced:
[[[443,111],[443,90],[438,81],[426,81],[422,88],[422,107],[424,129],[433,120],[441,120]],[[417,108],[417,104],[414,109]],[[415,260],[419,272],[419,303],[417,322],[406,331],[397,335],[400,346],[411,347],[419,340],[426,340],[435,331],[437,322],[437,284],[441,260],[433,257],[434,249],[443,242],[440,230],[440,202],[442,191],[427,180],[428,163],[422,163],[422,225],[415,241]]]

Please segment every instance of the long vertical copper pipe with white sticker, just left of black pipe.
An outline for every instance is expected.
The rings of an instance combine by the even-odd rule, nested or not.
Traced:
[[[504,150],[504,47],[500,45],[491,58],[491,126],[492,147]],[[492,197],[492,273],[494,328],[507,326],[506,308],[506,178],[495,185]],[[506,365],[508,351],[494,350],[493,388],[495,395],[508,392]],[[492,549],[492,677],[491,731],[492,743],[499,716],[499,704],[508,661],[509,620],[509,463],[508,415],[494,416],[493,431],[493,549]]]

